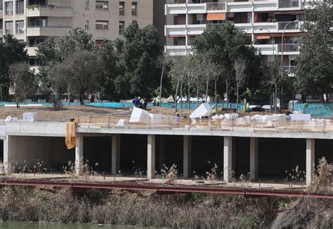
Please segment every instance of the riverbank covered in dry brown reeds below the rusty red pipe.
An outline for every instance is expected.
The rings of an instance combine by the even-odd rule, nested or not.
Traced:
[[[330,228],[332,200],[4,187],[4,221],[166,228]]]

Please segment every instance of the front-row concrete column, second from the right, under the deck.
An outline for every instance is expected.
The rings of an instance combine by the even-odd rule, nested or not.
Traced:
[[[231,181],[232,165],[233,165],[233,137],[224,137],[223,179],[227,183]]]

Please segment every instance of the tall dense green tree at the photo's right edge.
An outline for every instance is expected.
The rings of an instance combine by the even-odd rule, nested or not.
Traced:
[[[332,2],[313,3],[306,9],[303,22],[306,34],[301,37],[299,56],[296,57],[295,88],[304,94],[320,95],[322,100],[333,84],[332,28]]]

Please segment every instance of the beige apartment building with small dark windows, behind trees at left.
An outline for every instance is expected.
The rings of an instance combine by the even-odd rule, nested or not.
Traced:
[[[154,10],[162,9],[163,21],[165,3],[165,0],[0,0],[0,34],[13,34],[27,42],[30,65],[39,66],[36,46],[49,37],[59,37],[80,27],[92,34],[97,44],[104,39],[122,38],[124,28],[133,20],[140,27],[159,21]],[[165,23],[158,25],[164,32]]]

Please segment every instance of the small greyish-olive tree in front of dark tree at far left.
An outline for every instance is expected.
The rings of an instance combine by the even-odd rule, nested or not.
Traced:
[[[20,108],[20,102],[29,95],[34,95],[37,90],[34,74],[30,71],[28,64],[15,63],[9,67],[9,78],[11,90],[13,90],[13,101],[16,102],[17,108]]]

